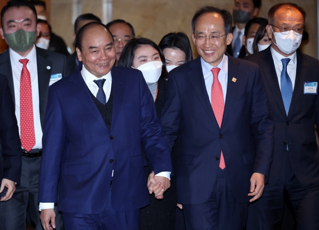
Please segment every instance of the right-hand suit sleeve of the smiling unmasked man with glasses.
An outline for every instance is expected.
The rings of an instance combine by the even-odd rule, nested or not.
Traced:
[[[251,128],[255,144],[254,172],[269,177],[274,151],[274,119],[258,66],[254,79],[251,109]]]

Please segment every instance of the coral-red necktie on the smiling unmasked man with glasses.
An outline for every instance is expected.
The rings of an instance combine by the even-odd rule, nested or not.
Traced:
[[[220,68],[212,68],[210,70],[213,73],[213,84],[211,86],[211,108],[213,109],[214,115],[216,117],[217,123],[219,125],[219,128],[221,126],[221,121],[223,120],[223,114],[224,114],[224,95],[223,95],[223,89],[221,88],[221,84],[218,81],[218,74],[220,71]],[[223,152],[220,154],[220,162],[219,167],[221,169],[225,168],[225,161]]]

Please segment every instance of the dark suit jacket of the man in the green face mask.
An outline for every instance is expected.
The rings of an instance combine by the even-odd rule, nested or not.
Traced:
[[[40,120],[42,130],[44,129],[45,108],[47,104],[47,97],[49,92],[49,82],[52,74],[62,74],[66,77],[70,74],[66,64],[66,57],[62,54],[54,53],[39,47],[36,49],[36,62],[38,71],[38,85],[39,85],[39,107]],[[50,67],[49,69],[47,67]],[[11,90],[11,95],[14,99],[14,86],[12,78],[12,68],[9,55],[9,49],[0,54],[0,73],[5,75]]]

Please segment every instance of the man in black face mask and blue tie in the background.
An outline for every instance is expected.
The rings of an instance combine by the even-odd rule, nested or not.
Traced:
[[[261,0],[235,0],[233,8],[233,20],[235,27],[233,27],[233,40],[227,46],[227,53],[233,57],[238,57],[240,49],[242,48],[242,38],[245,32],[246,23],[256,17],[261,6]]]

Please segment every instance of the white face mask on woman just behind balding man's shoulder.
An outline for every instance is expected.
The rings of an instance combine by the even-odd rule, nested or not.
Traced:
[[[156,83],[160,79],[161,67],[163,63],[160,61],[153,61],[145,63],[138,67],[141,70],[146,83]],[[133,67],[132,67],[133,68]]]

